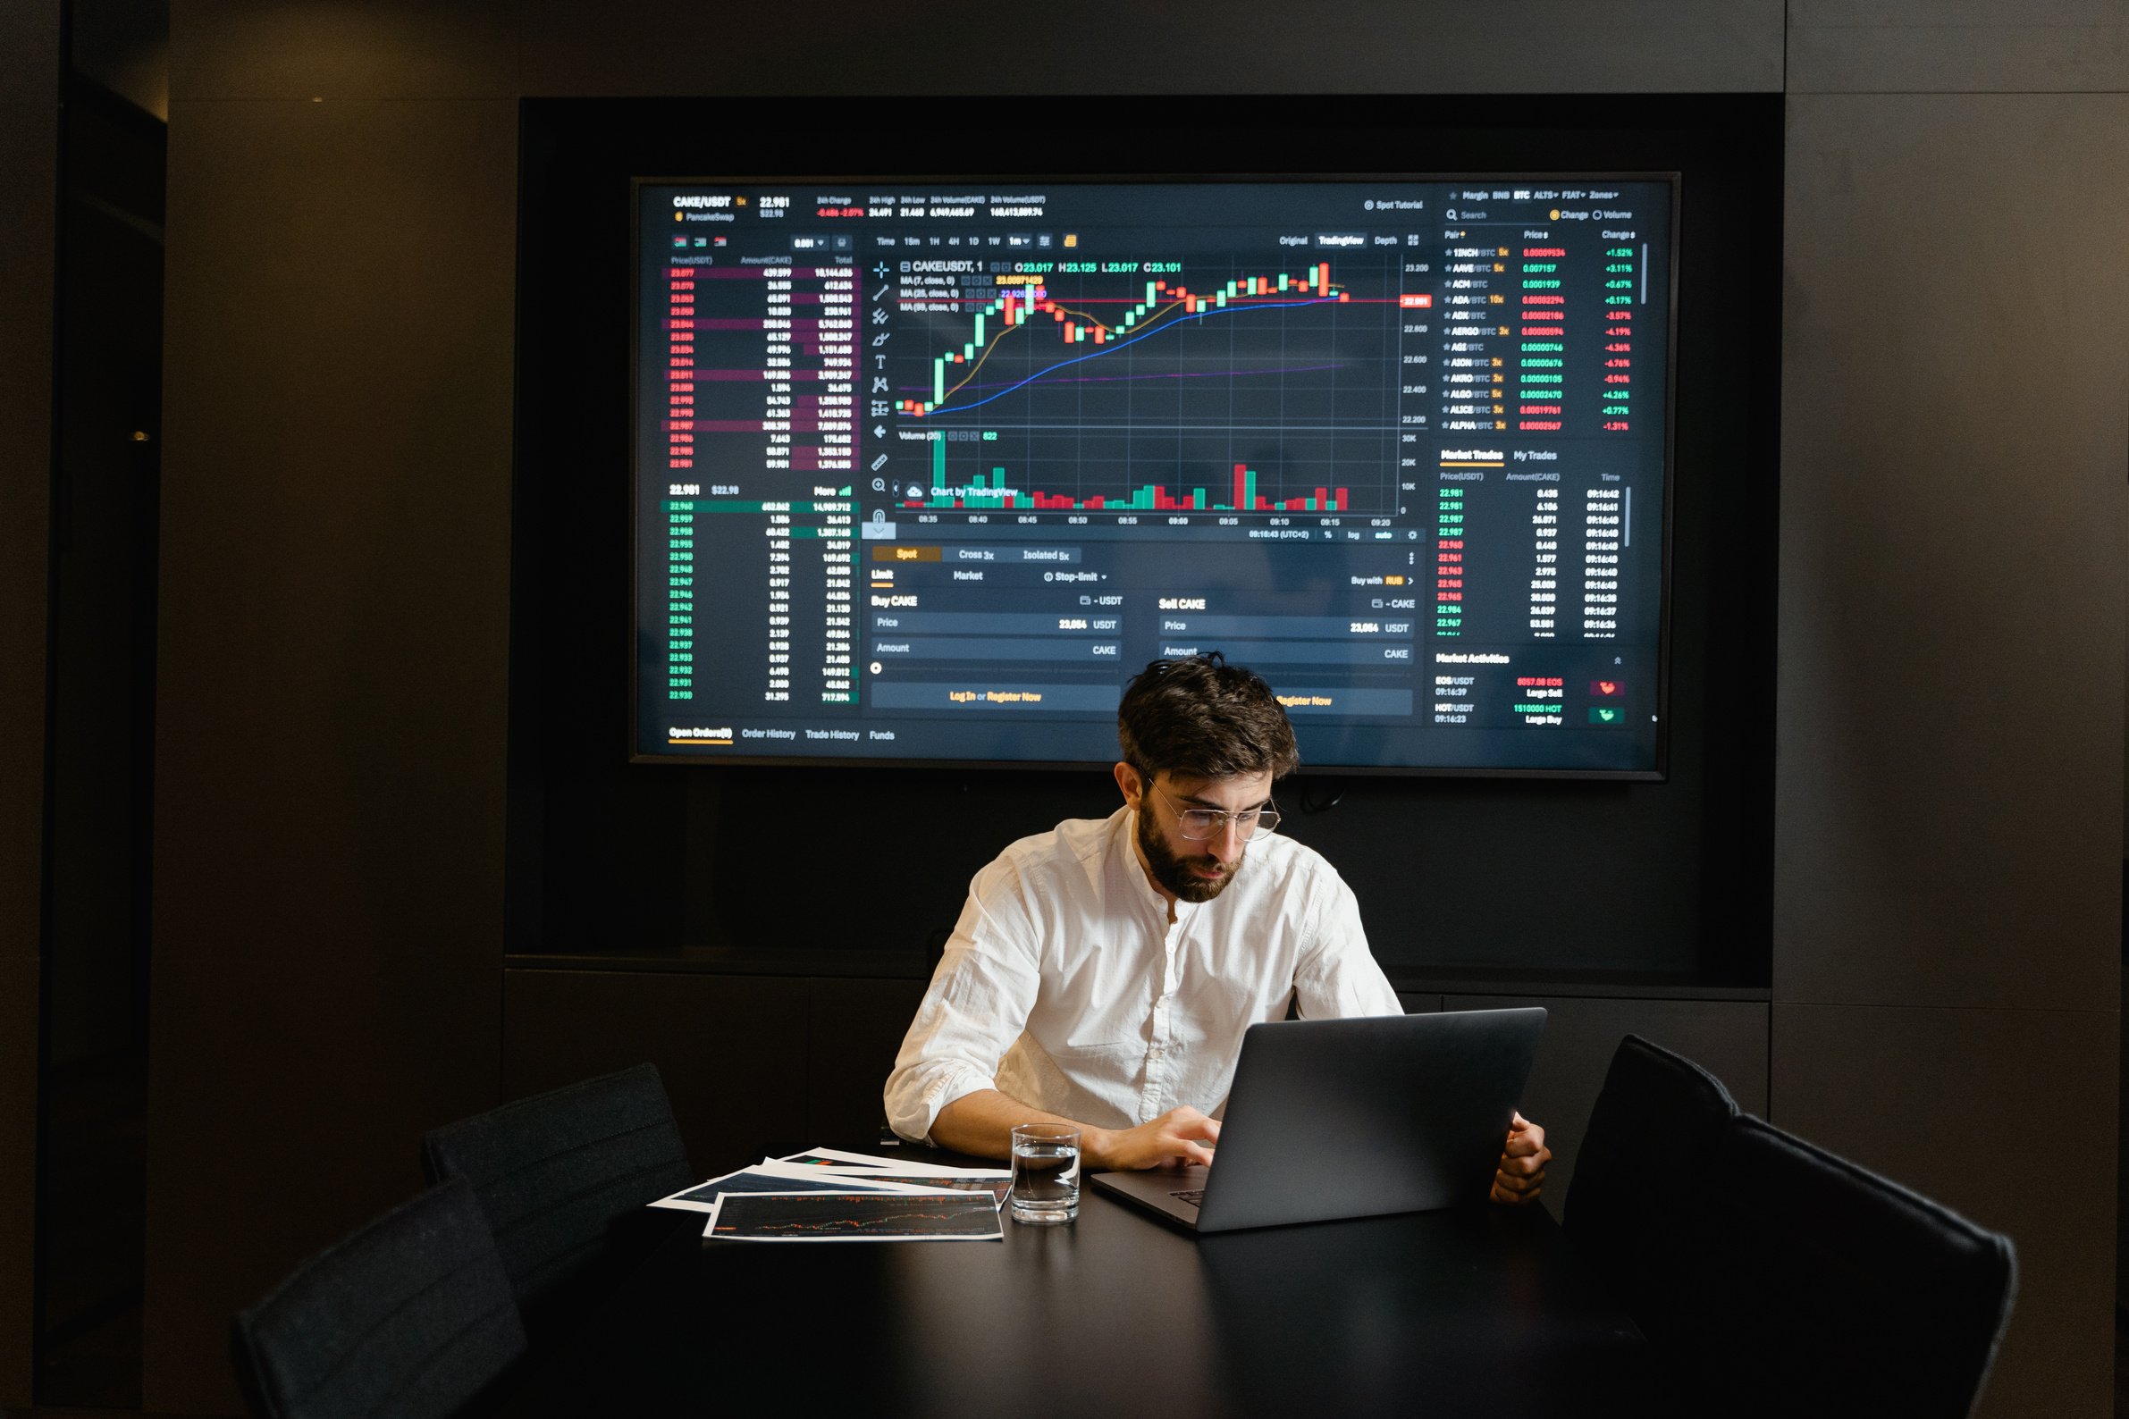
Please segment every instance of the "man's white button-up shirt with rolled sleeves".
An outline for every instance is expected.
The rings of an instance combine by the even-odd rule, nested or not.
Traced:
[[[945,957],[888,1076],[888,1121],[1001,1089],[1094,1128],[1192,1104],[1218,1115],[1241,1034],[1284,1019],[1401,1015],[1352,887],[1311,849],[1258,834],[1211,902],[1169,902],[1133,851],[1130,808],[1022,838],[969,883]]]

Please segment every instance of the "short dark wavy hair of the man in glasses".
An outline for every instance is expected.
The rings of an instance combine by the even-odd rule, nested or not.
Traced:
[[[1220,651],[1139,670],[1116,706],[1116,738],[1148,781],[1162,770],[1190,779],[1271,770],[1277,779],[1301,764],[1294,725],[1271,685]]]

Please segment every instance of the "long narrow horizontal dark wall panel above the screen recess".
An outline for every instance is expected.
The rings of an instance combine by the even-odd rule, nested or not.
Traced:
[[[524,6],[524,83],[577,94],[1514,94],[1782,87],[1782,4],[1503,6],[1184,0],[1045,6],[1039,36],[939,0],[805,11],[688,0]],[[1307,115],[1294,115],[1307,121]]]

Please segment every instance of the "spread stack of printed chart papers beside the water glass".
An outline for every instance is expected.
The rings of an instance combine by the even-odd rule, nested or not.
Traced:
[[[703,1236],[741,1242],[981,1242],[1005,1236],[999,1208],[1011,1185],[1003,1168],[807,1149],[651,1206],[709,1213]]]

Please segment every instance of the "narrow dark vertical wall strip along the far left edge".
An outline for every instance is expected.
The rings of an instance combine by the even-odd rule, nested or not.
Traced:
[[[60,4],[0,6],[0,1404],[28,1404]]]

